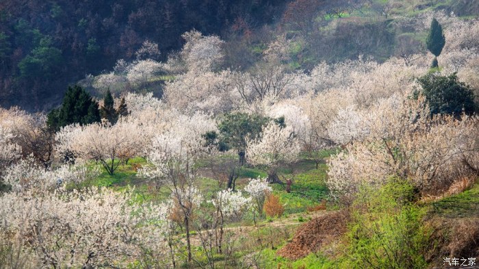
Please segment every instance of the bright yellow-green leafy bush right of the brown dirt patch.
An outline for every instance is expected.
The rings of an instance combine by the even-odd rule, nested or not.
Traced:
[[[415,199],[413,186],[396,178],[361,190],[348,231],[349,268],[426,268],[422,251],[430,231]]]

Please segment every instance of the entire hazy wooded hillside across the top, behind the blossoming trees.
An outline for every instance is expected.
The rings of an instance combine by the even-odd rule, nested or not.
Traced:
[[[432,8],[458,16],[478,10],[473,0],[452,2],[439,1]],[[133,60],[145,40],[158,44],[157,60],[166,60],[181,49],[181,34],[191,29],[225,40],[222,64],[232,68],[252,66],[280,34],[296,40],[291,66],[305,71],[321,60],[359,55],[386,60],[404,53],[406,44],[406,52],[415,53],[421,38],[391,20],[404,12],[400,5],[371,0],[1,1],[0,104],[51,110],[67,85],[100,75],[119,59]],[[412,8],[431,6],[413,3]],[[354,12],[363,18],[350,16]]]

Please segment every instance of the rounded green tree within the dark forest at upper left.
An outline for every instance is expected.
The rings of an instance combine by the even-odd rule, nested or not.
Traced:
[[[25,78],[50,78],[58,70],[62,59],[62,51],[53,47],[51,38],[42,38],[38,47],[18,63],[18,68],[21,76]]]

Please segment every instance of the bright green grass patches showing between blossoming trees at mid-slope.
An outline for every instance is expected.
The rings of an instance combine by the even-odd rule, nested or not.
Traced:
[[[325,151],[324,157],[331,155],[332,151]],[[114,175],[108,173],[98,164],[92,166],[99,166],[101,168],[101,175],[91,181],[82,183],[81,187],[108,187],[115,190],[122,190],[128,186],[134,186],[136,192],[142,199],[151,201],[164,201],[170,195],[168,188],[155,189],[155,184],[148,179],[141,179],[137,177],[138,167],[147,165],[146,159],[134,158],[126,165],[118,166]],[[318,170],[315,169],[315,164],[307,159],[302,159],[293,166],[294,179],[292,185],[292,192],[285,191],[285,185],[273,185],[274,194],[280,197],[281,203],[285,205],[286,214],[294,214],[305,212],[307,207],[313,207],[321,203],[323,199],[327,199],[328,190],[324,180],[326,179],[327,166],[324,162],[320,164]],[[292,177],[293,171],[291,169],[280,170],[280,175]],[[266,177],[266,172],[257,168],[243,167],[239,170],[239,179],[237,179],[237,188],[242,189],[248,183],[248,179],[257,177]],[[205,194],[205,197],[210,197],[214,192],[218,191],[218,184],[215,180],[208,177],[203,177],[198,181],[198,188]]]

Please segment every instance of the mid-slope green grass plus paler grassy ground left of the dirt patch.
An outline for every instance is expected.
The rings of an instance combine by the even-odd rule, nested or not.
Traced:
[[[324,158],[331,155],[332,151],[324,152]],[[154,183],[147,179],[137,177],[136,168],[138,166],[145,166],[148,163],[146,159],[134,158],[129,161],[127,165],[120,165],[115,171],[114,175],[108,175],[104,168],[101,168],[101,175],[88,182],[83,182],[81,186],[76,187],[107,187],[114,190],[124,190],[134,186],[136,200],[141,201],[165,201],[170,196],[168,188],[160,188],[156,190]],[[91,164],[91,166],[99,166],[99,164]],[[101,167],[101,166],[100,166]],[[294,170],[294,173],[293,173]],[[285,214],[281,218],[266,218],[257,221],[255,226],[252,216],[245,216],[241,223],[229,224],[226,228],[231,229],[231,232],[238,233],[242,236],[242,240],[252,243],[248,251],[245,253],[237,253],[237,255],[248,255],[250,249],[257,249],[261,245],[261,249],[271,250],[282,246],[294,235],[294,231],[298,225],[307,220],[311,220],[322,212],[307,212],[308,207],[313,207],[321,203],[323,199],[327,199],[328,190],[324,180],[326,179],[327,166],[322,162],[315,169],[315,164],[308,159],[301,159],[295,164],[292,169],[281,169],[280,175],[292,177],[294,174],[294,183],[292,185],[292,192],[285,192],[285,185],[273,185],[273,193],[278,195],[281,203],[285,205]],[[266,177],[266,173],[257,168],[241,168],[239,171],[239,179],[237,179],[237,189],[241,190],[248,183],[248,179]],[[214,192],[218,191],[218,183],[203,177],[198,180],[198,188],[205,197],[211,197]],[[240,231],[236,231],[239,229]],[[258,243],[258,240],[261,241]],[[248,244],[246,242],[245,244]],[[259,251],[259,249],[258,249]],[[267,268],[274,264],[276,258],[270,259],[270,255],[274,255],[274,251],[261,253],[265,258]],[[239,258],[238,256],[238,258]],[[218,257],[220,259],[220,257]]]

